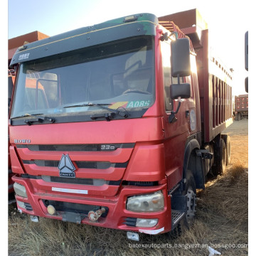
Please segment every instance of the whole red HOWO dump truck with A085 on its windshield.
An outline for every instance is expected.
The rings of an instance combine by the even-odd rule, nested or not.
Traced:
[[[132,240],[193,223],[196,188],[230,161],[221,132],[233,122],[232,78],[208,48],[196,9],[19,48],[9,116],[18,210]]]

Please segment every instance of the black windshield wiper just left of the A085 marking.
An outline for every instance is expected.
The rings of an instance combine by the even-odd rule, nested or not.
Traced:
[[[70,105],[70,106],[66,106],[64,108],[68,108],[68,107],[100,107],[102,108],[102,110],[108,110],[114,114],[118,114],[121,117],[127,118],[129,117],[129,112],[124,108],[124,107],[117,107],[116,110],[111,109],[109,107],[105,107],[107,105],[111,105],[109,103],[92,103],[92,102],[88,102],[85,104],[80,104],[80,105]],[[123,111],[120,111],[119,109],[122,108]],[[105,117],[108,121],[110,121],[110,119],[113,119],[112,114],[93,114],[90,116],[91,119],[97,119],[99,117]]]

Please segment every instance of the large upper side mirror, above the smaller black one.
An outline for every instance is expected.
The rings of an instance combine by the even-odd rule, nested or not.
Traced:
[[[191,75],[188,38],[171,41],[171,75],[174,78]]]

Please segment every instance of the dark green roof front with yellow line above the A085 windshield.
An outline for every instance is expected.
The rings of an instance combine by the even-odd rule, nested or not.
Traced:
[[[78,28],[19,47],[10,66],[134,36],[156,35],[154,14],[134,14]]]

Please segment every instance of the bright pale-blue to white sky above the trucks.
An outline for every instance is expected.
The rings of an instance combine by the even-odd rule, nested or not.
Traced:
[[[8,38],[14,38],[24,33],[40,31],[48,36],[55,36],[75,28],[131,14],[149,12],[164,16],[197,8],[208,22],[211,46],[227,68],[235,70],[233,91],[238,95],[245,93],[244,77],[247,74],[244,35],[249,29],[249,3],[248,0],[9,0],[7,35]]]

